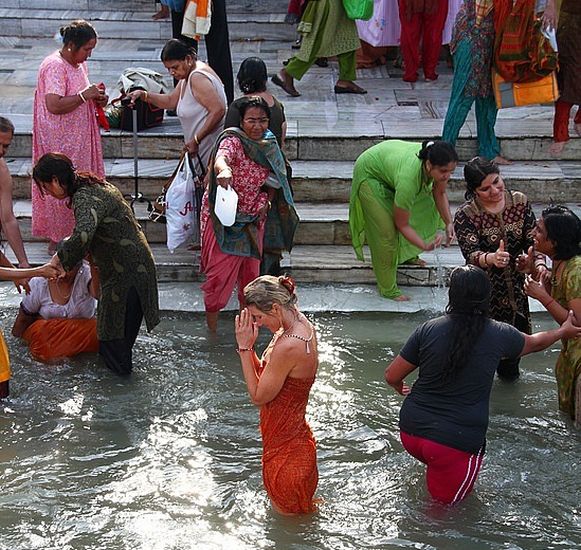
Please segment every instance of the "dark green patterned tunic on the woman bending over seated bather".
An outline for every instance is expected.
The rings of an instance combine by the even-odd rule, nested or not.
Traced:
[[[123,195],[110,183],[83,185],[72,203],[75,229],[59,245],[58,255],[65,270],[70,270],[90,252],[99,268],[99,340],[124,337],[127,293],[132,287],[139,295],[147,329],[152,330],[159,323],[155,263]]]

